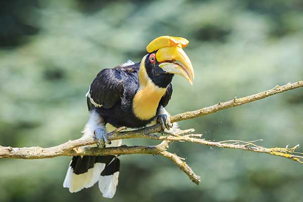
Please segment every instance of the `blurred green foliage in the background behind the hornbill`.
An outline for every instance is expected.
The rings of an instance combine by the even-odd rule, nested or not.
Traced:
[[[52,146],[80,137],[85,93],[102,68],[140,61],[146,44],[183,36],[195,69],[178,76],[168,106],[177,114],[303,78],[303,1],[2,1],[0,144]],[[186,92],[186,93],[185,93]],[[211,140],[303,142],[303,90],[180,123]],[[128,140],[127,144],[156,141]],[[302,165],[246,151],[172,143],[201,176],[172,162],[122,156],[112,201],[301,201]],[[69,157],[0,161],[0,201],[110,201],[97,186],[62,187]]]

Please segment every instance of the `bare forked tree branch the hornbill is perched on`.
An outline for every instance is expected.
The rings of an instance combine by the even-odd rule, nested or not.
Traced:
[[[283,86],[276,86],[273,89],[266,90],[257,94],[249,95],[242,98],[234,98],[224,103],[218,103],[210,107],[206,107],[200,110],[185,112],[171,117],[171,122],[183,121],[192,119],[200,116],[209,115],[220,110],[225,110],[232,107],[237,107],[246,103],[251,103],[259,99],[266,98],[268,96],[281,93],[287,90],[303,87],[303,81],[295,83],[288,83]],[[161,155],[173,161],[194,183],[198,184],[200,179],[199,176],[194,174],[192,169],[183,161],[182,158],[175,154],[167,151],[168,144],[170,141],[187,141],[193,143],[199,143],[209,146],[216,146],[221,148],[233,148],[242,149],[247,151],[254,151],[257,153],[264,153],[279,157],[284,157],[299,163],[303,163],[303,154],[295,152],[298,145],[288,148],[265,148],[254,144],[255,141],[241,141],[241,140],[226,140],[220,142],[208,141],[201,139],[200,134],[189,134],[184,135],[188,132],[193,132],[193,129],[185,131],[175,131],[174,133],[163,132],[168,136],[157,136],[153,133],[161,132],[159,124],[149,126],[146,128],[133,130],[133,131],[122,131],[124,128],[117,129],[108,133],[109,140],[116,139],[129,139],[129,138],[149,138],[163,140],[162,143],[153,146],[126,146],[122,145],[119,147],[108,147],[99,149],[97,147],[90,147],[86,145],[95,144],[94,138],[80,138],[76,140],[69,140],[63,144],[42,148],[39,146],[34,147],[11,147],[11,146],[0,146],[0,158],[15,158],[15,159],[44,159],[54,158],[58,156],[95,156],[95,155],[130,155],[130,154],[149,154],[149,155]],[[81,147],[84,146],[84,147]]]

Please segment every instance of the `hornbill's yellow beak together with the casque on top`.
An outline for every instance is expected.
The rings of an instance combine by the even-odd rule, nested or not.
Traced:
[[[156,50],[156,59],[159,67],[165,72],[179,74],[192,85],[194,72],[188,56],[182,47],[186,47],[189,41],[182,37],[160,36],[151,41],[146,50],[148,53]]]

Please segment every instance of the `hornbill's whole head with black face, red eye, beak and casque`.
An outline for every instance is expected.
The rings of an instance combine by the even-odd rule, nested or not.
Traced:
[[[174,74],[184,77],[190,84],[194,79],[191,62],[183,48],[189,41],[182,37],[160,36],[146,46],[148,54],[144,56],[147,76],[159,87],[166,87]]]

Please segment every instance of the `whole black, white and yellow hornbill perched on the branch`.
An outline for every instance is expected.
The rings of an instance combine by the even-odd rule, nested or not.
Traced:
[[[170,130],[173,125],[164,108],[172,95],[172,78],[179,74],[190,84],[194,79],[191,62],[183,51],[188,43],[182,37],[160,36],[146,46],[147,55],[141,62],[128,61],[100,71],[86,94],[89,120],[83,137],[95,136],[99,147],[120,146],[121,140],[108,140],[108,131],[122,126],[142,128],[156,122],[163,130]],[[103,196],[112,198],[119,168],[120,160],[114,155],[75,156],[63,186],[77,192],[98,182]]]

